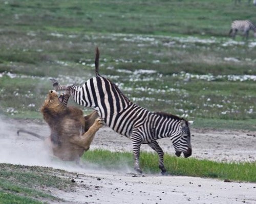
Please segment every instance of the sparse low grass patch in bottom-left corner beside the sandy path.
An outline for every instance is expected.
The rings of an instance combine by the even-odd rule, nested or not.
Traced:
[[[62,199],[49,189],[69,191],[66,171],[49,167],[0,164],[0,203],[51,203]]]

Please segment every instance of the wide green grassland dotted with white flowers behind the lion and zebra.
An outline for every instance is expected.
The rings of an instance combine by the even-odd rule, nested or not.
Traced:
[[[82,84],[93,77],[98,45],[100,73],[136,104],[202,127],[223,127],[226,120],[231,128],[236,121],[254,130],[254,81],[225,77],[256,75],[252,36],[246,43],[227,36],[234,19],[256,22],[254,12],[220,0],[6,2],[0,6],[0,112],[40,119],[49,78]]]

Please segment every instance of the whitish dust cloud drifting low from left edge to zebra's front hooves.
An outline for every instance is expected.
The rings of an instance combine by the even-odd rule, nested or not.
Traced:
[[[17,130],[21,128],[44,137],[50,135],[48,125],[43,122],[7,119],[0,116],[0,163],[47,166],[73,172],[109,172],[100,164],[81,162],[78,165],[75,162],[59,160],[51,155],[51,150],[44,141],[27,133],[19,133],[18,136]],[[126,173],[134,171],[125,163],[120,164],[117,169]]]

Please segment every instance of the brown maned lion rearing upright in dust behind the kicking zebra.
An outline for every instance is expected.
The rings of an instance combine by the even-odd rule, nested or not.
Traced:
[[[49,137],[44,138],[23,129],[18,130],[17,134],[24,132],[43,139],[54,156],[79,163],[80,157],[90,148],[95,133],[103,125],[103,120],[96,111],[83,116],[79,108],[67,106],[68,99],[67,94],[58,97],[56,91],[49,91],[40,109],[51,130]]]

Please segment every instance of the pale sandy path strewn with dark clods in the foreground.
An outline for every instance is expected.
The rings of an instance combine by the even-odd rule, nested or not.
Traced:
[[[75,192],[55,192],[76,203],[256,203],[256,185],[224,183],[186,176],[133,177],[119,173],[86,173],[75,179],[90,186]],[[88,176],[90,175],[90,176]]]

